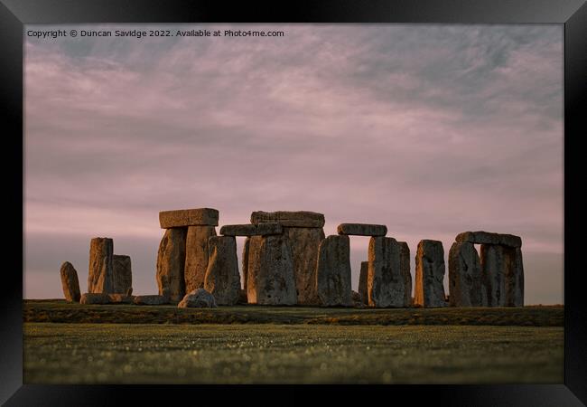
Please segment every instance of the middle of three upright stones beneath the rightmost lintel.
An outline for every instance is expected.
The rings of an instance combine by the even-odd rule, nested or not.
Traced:
[[[506,269],[504,246],[481,244],[481,304],[486,307],[506,306]]]

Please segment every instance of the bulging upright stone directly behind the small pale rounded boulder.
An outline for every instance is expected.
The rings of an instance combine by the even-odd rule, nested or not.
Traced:
[[[208,240],[210,258],[204,289],[218,305],[235,305],[240,296],[237,241],[234,236],[212,236]]]

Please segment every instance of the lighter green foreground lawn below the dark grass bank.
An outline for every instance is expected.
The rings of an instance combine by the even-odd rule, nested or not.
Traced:
[[[564,330],[25,323],[23,374],[24,383],[563,383]]]

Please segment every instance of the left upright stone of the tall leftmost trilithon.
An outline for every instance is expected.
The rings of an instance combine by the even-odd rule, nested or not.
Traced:
[[[157,254],[157,285],[159,295],[180,301],[185,295],[183,267],[187,228],[167,229]]]

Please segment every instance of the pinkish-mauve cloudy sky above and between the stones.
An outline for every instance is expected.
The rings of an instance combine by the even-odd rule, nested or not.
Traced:
[[[225,29],[282,37],[35,38]],[[158,213],[211,207],[382,223],[412,257],[459,232],[522,237],[526,304],[562,304],[561,25],[26,25],[25,298],[87,290],[89,241],[157,293]],[[219,228],[217,228],[217,232]],[[238,256],[243,247],[238,238]],[[368,238],[351,237],[352,288]],[[448,291],[447,291],[448,294]]]

